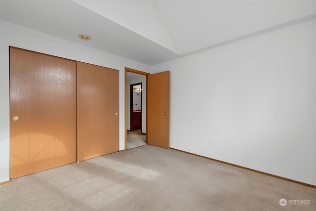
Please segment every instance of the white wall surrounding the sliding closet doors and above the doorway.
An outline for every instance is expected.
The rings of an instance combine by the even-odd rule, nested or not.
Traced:
[[[9,180],[9,45],[119,70],[119,150],[125,149],[125,67],[149,72],[150,66],[1,20],[0,182]],[[76,36],[76,35],[75,35]]]

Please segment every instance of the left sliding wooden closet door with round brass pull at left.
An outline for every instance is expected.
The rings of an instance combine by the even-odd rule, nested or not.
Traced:
[[[76,61],[10,47],[10,177],[73,162]]]

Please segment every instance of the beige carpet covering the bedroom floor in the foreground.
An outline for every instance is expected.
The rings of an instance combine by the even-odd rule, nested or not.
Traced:
[[[12,179],[0,210],[315,211],[316,189],[145,145]]]

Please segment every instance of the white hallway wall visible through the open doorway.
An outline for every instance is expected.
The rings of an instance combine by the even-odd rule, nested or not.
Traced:
[[[130,130],[130,84],[142,83],[142,133],[146,133],[146,76],[139,75],[139,77],[132,78],[126,82],[127,87],[127,122],[126,129]]]

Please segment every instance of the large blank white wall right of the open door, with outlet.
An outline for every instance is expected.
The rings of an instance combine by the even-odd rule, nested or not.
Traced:
[[[170,147],[316,185],[316,19],[152,67],[165,70]]]

